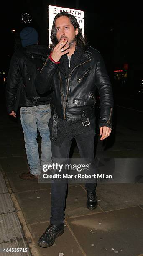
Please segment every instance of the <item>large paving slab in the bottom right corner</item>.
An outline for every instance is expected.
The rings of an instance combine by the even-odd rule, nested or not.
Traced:
[[[115,210],[66,220],[87,256],[143,253],[143,210]]]

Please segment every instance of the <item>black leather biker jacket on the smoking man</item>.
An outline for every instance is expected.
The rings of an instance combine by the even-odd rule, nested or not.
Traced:
[[[56,109],[59,118],[66,120],[84,120],[85,117],[95,116],[97,88],[100,96],[99,127],[112,128],[112,85],[99,51],[92,47],[83,51],[68,77],[62,61],[55,64],[47,59],[36,77],[36,89],[39,93],[45,93],[51,87],[54,89],[51,108]]]

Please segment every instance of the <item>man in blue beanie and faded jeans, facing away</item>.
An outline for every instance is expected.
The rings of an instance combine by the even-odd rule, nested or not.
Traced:
[[[6,108],[8,114],[16,118],[20,107],[20,120],[24,133],[25,148],[29,164],[28,173],[21,173],[25,180],[38,179],[44,164],[51,164],[51,143],[48,122],[51,117],[51,94],[29,97],[23,79],[26,56],[43,58],[46,61],[49,48],[38,45],[38,33],[32,27],[25,27],[20,32],[22,46],[15,51],[10,62],[6,84]],[[44,62],[43,62],[44,63]],[[27,73],[26,73],[27,74]],[[38,129],[38,130],[37,130]],[[37,132],[41,135],[41,159],[39,159]]]

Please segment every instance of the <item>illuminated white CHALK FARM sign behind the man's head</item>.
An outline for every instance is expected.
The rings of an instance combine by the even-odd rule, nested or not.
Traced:
[[[48,46],[51,44],[51,28],[53,24],[53,20],[57,13],[61,12],[71,13],[74,15],[74,17],[77,19],[77,22],[79,23],[79,28],[82,29],[82,34],[84,35],[84,12],[81,10],[76,9],[70,9],[65,7],[59,7],[54,5],[49,5],[49,21],[48,21]]]

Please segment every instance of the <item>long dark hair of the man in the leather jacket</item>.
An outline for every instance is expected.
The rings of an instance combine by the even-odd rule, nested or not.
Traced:
[[[85,37],[83,37],[82,35],[82,29],[79,28],[79,23],[77,22],[77,19],[74,17],[74,15],[72,15],[71,13],[66,13],[66,12],[61,12],[56,14],[54,20],[53,20],[53,26],[51,29],[51,41],[52,44],[50,45],[51,50],[54,49],[54,47],[56,46],[56,44],[58,44],[58,40],[56,38],[56,28],[55,28],[55,23],[56,23],[56,19],[61,17],[61,16],[66,16],[69,18],[70,23],[74,26],[74,29],[78,29],[78,34],[75,38],[76,40],[76,46],[80,46],[80,47],[85,47],[88,45],[87,40]]]

